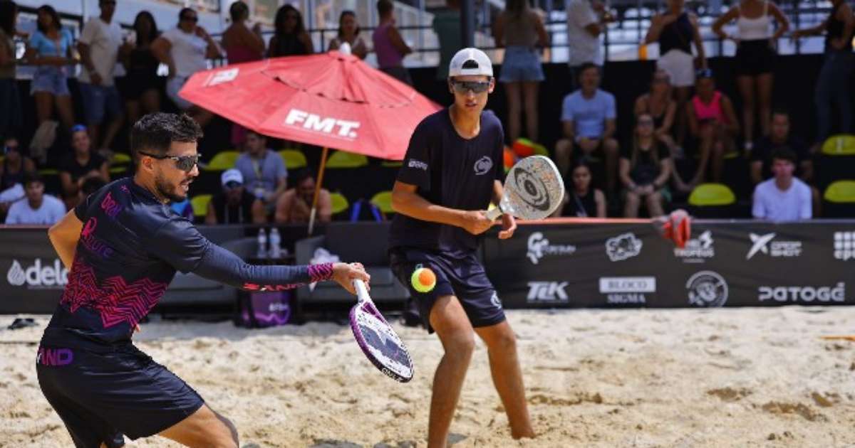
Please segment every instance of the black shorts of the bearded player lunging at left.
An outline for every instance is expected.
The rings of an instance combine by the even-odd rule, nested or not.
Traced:
[[[78,448],[110,448],[148,437],[202,407],[196,391],[130,343],[67,348],[42,345],[38,385]]]

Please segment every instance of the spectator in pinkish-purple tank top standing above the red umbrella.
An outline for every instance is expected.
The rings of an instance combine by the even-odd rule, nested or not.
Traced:
[[[377,65],[392,78],[412,85],[410,72],[404,67],[404,56],[409,55],[413,50],[404,42],[404,38],[395,26],[395,6],[392,0],[378,0],[377,12],[380,14],[380,24],[371,35],[374,41],[374,53],[377,54]]]

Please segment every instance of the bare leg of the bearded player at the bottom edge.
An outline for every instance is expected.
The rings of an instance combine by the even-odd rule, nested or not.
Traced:
[[[158,435],[192,448],[238,448],[238,429],[207,404]]]

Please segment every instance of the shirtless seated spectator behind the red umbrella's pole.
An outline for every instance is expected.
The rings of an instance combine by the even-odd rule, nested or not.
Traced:
[[[307,168],[293,175],[294,187],[288,189],[276,202],[276,224],[303,224],[309,222],[312,200],[315,195],[315,177]],[[333,200],[327,189],[318,194],[316,223],[328,223],[333,218]]]

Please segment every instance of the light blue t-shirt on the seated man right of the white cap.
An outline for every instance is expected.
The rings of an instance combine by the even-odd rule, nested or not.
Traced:
[[[605,120],[615,119],[615,96],[597,89],[592,98],[582,96],[581,90],[564,96],[561,120],[575,124],[577,137],[601,138]]]

